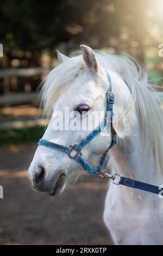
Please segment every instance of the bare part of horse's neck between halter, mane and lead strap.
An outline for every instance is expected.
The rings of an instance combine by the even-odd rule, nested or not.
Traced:
[[[136,116],[135,116],[136,115]],[[155,166],[152,153],[144,153],[139,119],[134,112],[131,117],[132,127],[127,125],[128,131],[123,139],[110,151],[112,172],[144,182],[155,183]]]

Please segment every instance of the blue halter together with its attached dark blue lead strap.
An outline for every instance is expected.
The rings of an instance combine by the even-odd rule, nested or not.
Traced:
[[[112,182],[116,185],[121,184],[124,186],[137,188],[139,190],[148,191],[148,192],[160,194],[161,196],[163,196],[163,188],[159,186],[154,186],[141,181],[126,178],[117,173],[112,175],[103,169],[108,151],[118,143],[117,133],[114,130],[114,127],[112,126],[113,104],[114,104],[115,95],[111,92],[112,88],[111,88],[110,76],[108,72],[106,74],[107,74],[108,82],[110,85],[110,90],[106,91],[106,107],[105,107],[104,121],[102,121],[102,123],[100,123],[94,130],[92,130],[89,133],[89,135],[84,137],[82,141],[80,141],[78,144],[74,144],[74,145],[70,145],[69,147],[66,147],[64,145],[47,141],[46,139],[40,139],[38,144],[44,147],[65,152],[68,155],[68,157],[70,157],[70,159],[76,160],[78,163],[80,163],[83,169],[87,171],[87,173],[99,174],[99,176],[101,176],[102,178],[111,178]],[[101,132],[108,125],[106,120],[108,112],[110,112],[111,144],[102,155],[101,160],[99,161],[98,167],[92,168],[90,164],[83,159],[81,150],[84,148],[86,144],[88,144],[93,138],[95,138],[96,135],[98,135],[98,133]],[[72,155],[74,151],[76,152],[76,154]]]

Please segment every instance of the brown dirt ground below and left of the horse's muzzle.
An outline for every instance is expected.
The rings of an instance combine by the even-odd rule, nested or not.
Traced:
[[[111,244],[102,219],[108,180],[85,174],[62,196],[37,193],[27,178],[35,149],[36,145],[0,148],[0,244]]]

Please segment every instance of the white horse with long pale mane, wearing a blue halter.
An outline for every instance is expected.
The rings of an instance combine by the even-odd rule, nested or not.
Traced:
[[[83,54],[72,58],[58,52],[60,64],[42,86],[45,113],[52,116],[55,110],[64,114],[67,106],[75,113],[85,111],[81,114],[85,119],[92,111],[103,111],[107,71],[115,94],[113,125],[118,144],[110,149],[105,170],[163,185],[163,115],[159,94],[149,84],[147,72],[132,58],[93,51],[84,45],[81,48]],[[68,146],[88,133],[54,131],[51,119],[43,139]],[[82,150],[84,159],[95,166],[110,143],[110,136],[96,136]],[[81,172],[80,164],[67,154],[39,145],[28,175],[35,190],[54,196],[64,191],[71,176]],[[110,183],[104,222],[117,245],[163,243],[163,201],[156,194]]]

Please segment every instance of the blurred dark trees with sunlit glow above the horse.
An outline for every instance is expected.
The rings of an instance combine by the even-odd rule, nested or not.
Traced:
[[[43,50],[67,52],[81,43],[112,47],[143,61],[144,47],[160,40],[149,31],[149,25],[162,25],[153,2],[159,8],[160,0],[5,0],[0,10],[5,65],[13,58],[40,65]]]

